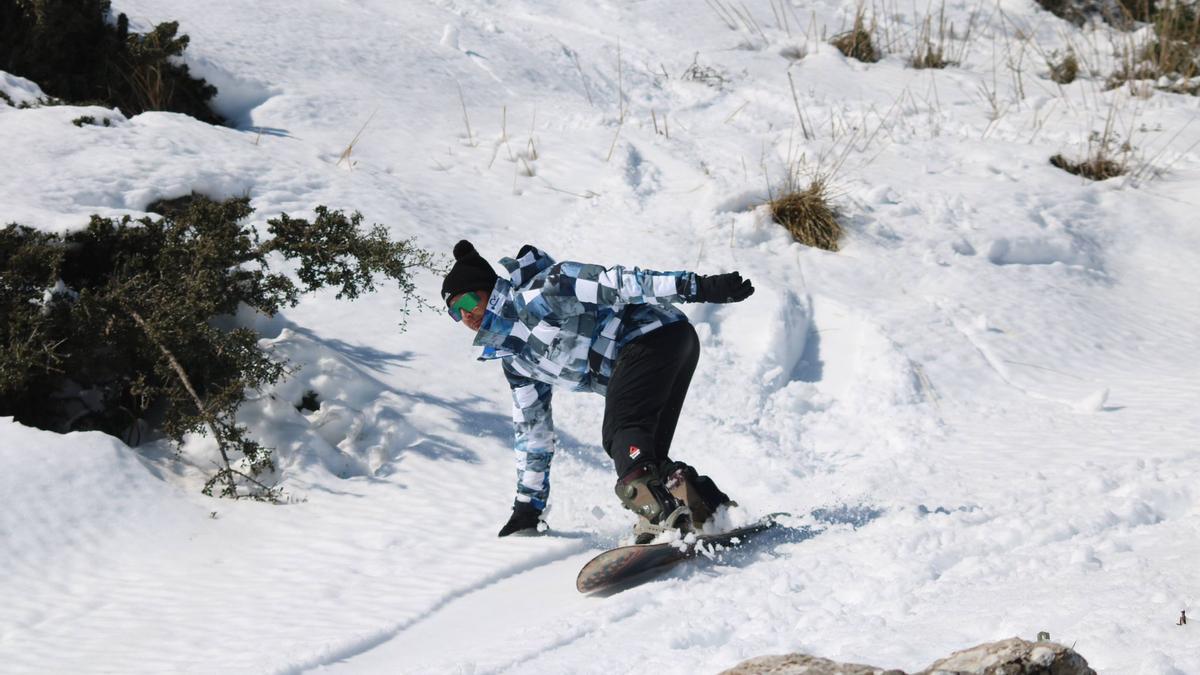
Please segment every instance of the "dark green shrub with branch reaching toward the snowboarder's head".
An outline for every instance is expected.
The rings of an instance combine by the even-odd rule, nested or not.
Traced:
[[[253,330],[217,319],[241,305],[274,315],[328,286],[355,298],[379,275],[406,304],[420,303],[412,274],[433,258],[382,226],[362,228],[358,213],[325,207],[312,222],[268,221],[262,240],[246,223],[247,199],[193,197],[163,210],[157,220],[92,216],[62,235],[0,229],[0,416],[130,443],[148,429],[176,441],[211,434],[223,461],[205,491],[220,484],[224,496],[270,497],[254,476],[272,467],[271,453],[234,413],[247,389],[277,382],[287,364]],[[299,286],[271,271],[272,255],[296,262]]]

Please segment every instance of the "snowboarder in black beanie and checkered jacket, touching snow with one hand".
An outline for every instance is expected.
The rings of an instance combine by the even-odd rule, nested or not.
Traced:
[[[605,396],[601,437],[617,497],[637,514],[637,543],[698,528],[732,503],[707,476],[668,456],[700,357],[676,303],[736,303],[754,293],[737,271],[702,276],[556,263],[524,245],[502,279],[467,240],[442,283],[451,318],[475,331],[480,360],[499,359],[512,390],[517,495],[499,536],[536,533],[554,455],[552,387]]]

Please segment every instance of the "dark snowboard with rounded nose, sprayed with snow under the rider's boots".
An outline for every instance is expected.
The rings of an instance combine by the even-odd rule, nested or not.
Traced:
[[[666,569],[707,551],[737,548],[751,537],[776,525],[776,518],[786,513],[773,513],[757,522],[721,532],[697,534],[695,542],[668,542],[664,544],[632,544],[610,549],[595,556],[575,579],[581,593],[595,593],[618,587],[634,586]]]

